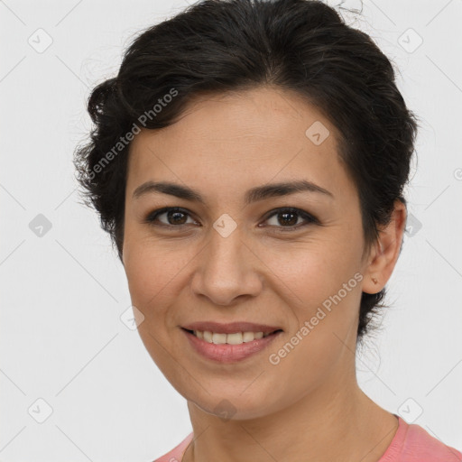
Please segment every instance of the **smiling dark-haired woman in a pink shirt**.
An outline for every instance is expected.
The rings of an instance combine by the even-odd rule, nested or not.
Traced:
[[[462,459],[356,382],[418,126],[365,33],[317,1],[206,0],[136,38],[88,111],[79,181],[188,401],[157,460]]]

